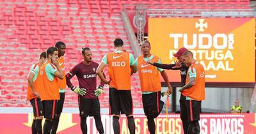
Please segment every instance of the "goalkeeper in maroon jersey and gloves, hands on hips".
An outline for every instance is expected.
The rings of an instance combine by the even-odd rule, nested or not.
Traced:
[[[99,96],[103,91],[104,84],[101,82],[97,87],[96,69],[99,66],[98,63],[92,61],[92,51],[90,48],[85,47],[82,50],[84,61],[77,64],[72,70],[70,70],[67,77],[67,85],[72,91],[78,94],[78,105],[81,119],[81,130],[83,134],[87,133],[86,117],[93,116],[95,119],[96,128],[100,134],[104,133],[103,125],[100,117],[100,103]],[[73,86],[70,78],[76,75],[79,87]]]

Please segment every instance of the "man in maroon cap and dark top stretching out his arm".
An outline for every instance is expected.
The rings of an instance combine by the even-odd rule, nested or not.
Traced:
[[[188,49],[182,47],[178,50],[176,54],[173,54],[174,57],[177,57],[178,61],[175,62],[175,64],[161,64],[156,63],[151,60],[148,60],[148,63],[152,64],[153,66],[156,66],[158,68],[163,68],[166,70],[180,70],[180,78],[181,78],[181,87],[186,85],[186,77],[188,72],[188,66],[182,62],[182,54],[186,52]],[[180,118],[182,121],[183,131],[184,134],[188,134],[188,112],[186,109],[186,96],[183,96],[180,94]]]

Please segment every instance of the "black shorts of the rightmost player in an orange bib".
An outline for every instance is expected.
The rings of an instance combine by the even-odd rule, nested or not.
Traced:
[[[186,108],[188,111],[188,121],[200,120],[201,101],[186,100]]]

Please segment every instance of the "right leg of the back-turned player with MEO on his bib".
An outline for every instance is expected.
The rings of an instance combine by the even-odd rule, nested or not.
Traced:
[[[119,91],[121,114],[125,114],[128,121],[128,128],[131,134],[135,134],[135,122],[133,118],[133,105],[131,91]]]

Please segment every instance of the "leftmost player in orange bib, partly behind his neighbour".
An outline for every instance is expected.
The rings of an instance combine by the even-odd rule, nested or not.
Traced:
[[[34,119],[31,126],[33,134],[42,134],[42,119],[44,117],[44,108],[40,99],[40,91],[42,90],[44,83],[40,74],[40,69],[45,61],[46,52],[42,52],[40,54],[39,60],[35,64],[32,64],[28,74],[27,100],[30,101],[33,107]]]

